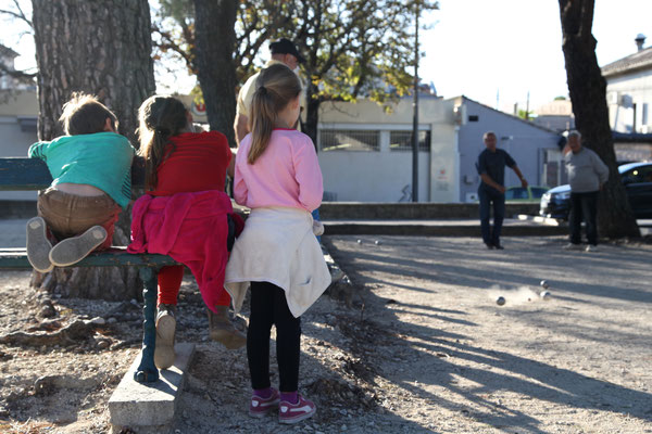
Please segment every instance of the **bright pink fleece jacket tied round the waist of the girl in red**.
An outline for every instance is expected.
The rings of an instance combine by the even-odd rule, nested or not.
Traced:
[[[230,199],[217,190],[159,197],[146,194],[134,204],[127,252],[170,255],[188,266],[204,303],[215,310],[225,292],[226,216],[231,213]]]

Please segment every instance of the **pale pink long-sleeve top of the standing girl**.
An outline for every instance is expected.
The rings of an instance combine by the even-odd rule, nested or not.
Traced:
[[[274,129],[265,152],[254,164],[247,162],[251,135],[236,156],[234,197],[250,208],[285,206],[312,212],[324,194],[322,170],[315,146],[294,129]]]

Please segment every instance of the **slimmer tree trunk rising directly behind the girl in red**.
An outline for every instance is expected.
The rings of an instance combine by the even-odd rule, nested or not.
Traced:
[[[195,0],[195,64],[212,130],[236,146],[235,0]]]

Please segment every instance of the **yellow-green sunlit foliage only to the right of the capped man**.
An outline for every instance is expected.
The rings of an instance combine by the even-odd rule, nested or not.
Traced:
[[[299,0],[296,25],[285,30],[306,53],[312,98],[377,102],[406,94],[413,84],[414,17],[426,1]],[[294,29],[294,31],[292,31]]]

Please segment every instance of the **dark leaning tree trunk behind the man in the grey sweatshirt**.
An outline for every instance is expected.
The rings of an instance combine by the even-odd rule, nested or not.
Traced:
[[[606,106],[606,81],[591,34],[594,0],[560,0],[563,51],[575,125],[582,143],[609,166],[609,181],[598,204],[598,229],[607,238],[640,237],[625,187],[620,182]]]

